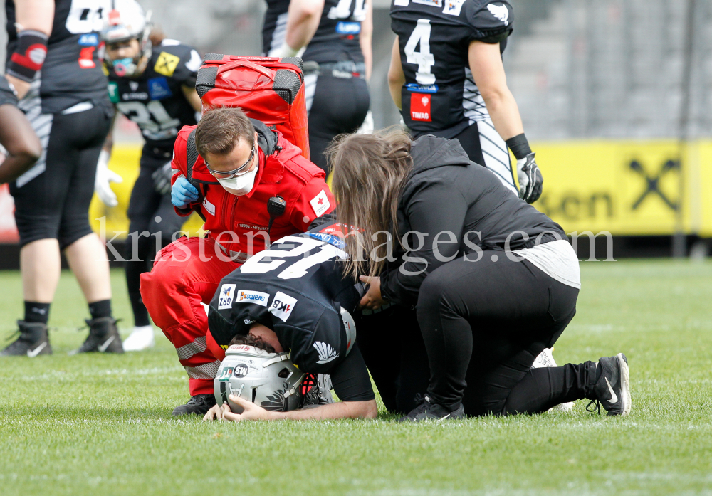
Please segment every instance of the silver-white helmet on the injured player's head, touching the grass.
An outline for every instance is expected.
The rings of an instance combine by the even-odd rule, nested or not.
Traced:
[[[304,376],[288,353],[233,344],[226,350],[213,382],[215,399],[219,405],[227,402],[234,413],[242,413],[242,408],[230,401],[231,394],[266,410],[295,410],[300,406],[299,386]]]

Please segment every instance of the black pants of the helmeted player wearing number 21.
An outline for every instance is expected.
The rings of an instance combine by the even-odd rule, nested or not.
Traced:
[[[151,157],[144,149],[127,211],[130,224],[125,253],[126,285],[137,326],[150,324],[148,311],[141,300],[141,274],[151,270],[157,248],[168,246],[173,233],[179,231],[186,220],[175,213],[170,191],[160,195],[154,189],[151,175],[169,160],[170,154],[167,158]],[[149,236],[138,236],[140,233]]]

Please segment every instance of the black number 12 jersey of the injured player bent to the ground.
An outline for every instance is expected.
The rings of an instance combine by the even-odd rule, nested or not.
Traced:
[[[347,254],[330,228],[282,238],[221,280],[208,315],[218,344],[258,322],[303,371],[329,374],[345,359],[352,343],[340,311],[355,312],[360,292],[342,276]]]

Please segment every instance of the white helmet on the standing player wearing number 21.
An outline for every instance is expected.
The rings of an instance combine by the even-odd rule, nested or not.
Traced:
[[[149,35],[153,28],[150,23],[151,11],[144,14],[136,0],[112,0],[112,10],[105,16],[101,30],[102,40],[109,44],[121,43],[132,39],[138,40],[139,53],[135,57],[112,60],[105,53],[104,60],[120,77],[130,77],[142,73],[147,60],[151,58],[151,41]]]

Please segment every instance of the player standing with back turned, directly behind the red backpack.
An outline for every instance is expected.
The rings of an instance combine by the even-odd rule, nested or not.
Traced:
[[[372,14],[372,0],[267,0],[263,52],[303,58],[310,158],[327,174],[326,147],[370,113]]]

